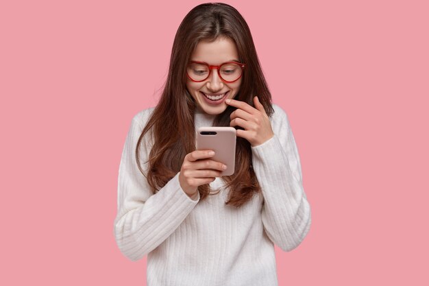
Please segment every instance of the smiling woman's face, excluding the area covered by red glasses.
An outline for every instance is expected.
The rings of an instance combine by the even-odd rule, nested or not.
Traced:
[[[210,65],[219,66],[223,62],[239,62],[238,53],[234,41],[230,38],[218,38],[212,43],[200,41],[191,55],[191,60],[206,62]],[[186,88],[195,99],[199,108],[210,115],[218,115],[228,107],[225,99],[234,98],[241,85],[242,78],[235,82],[223,82],[219,78],[217,69],[211,69],[210,76],[204,82],[193,82],[186,77]],[[206,95],[222,95],[221,100],[213,102]],[[214,99],[212,97],[212,99]]]

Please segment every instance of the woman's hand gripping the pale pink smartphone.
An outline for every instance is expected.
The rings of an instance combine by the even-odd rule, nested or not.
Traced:
[[[210,154],[211,150],[195,150],[186,154],[182,167],[180,168],[180,187],[190,197],[197,193],[198,186],[213,182],[221,176],[221,172],[226,166],[215,160],[208,158],[215,155]],[[225,166],[225,168],[223,168]]]

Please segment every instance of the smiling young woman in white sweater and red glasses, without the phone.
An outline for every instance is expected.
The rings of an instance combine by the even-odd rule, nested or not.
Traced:
[[[232,176],[195,150],[200,126],[237,129]],[[274,243],[293,250],[310,222],[289,119],[271,103],[247,23],[230,5],[198,5],[175,35],[160,102],[127,134],[119,249],[132,261],[147,254],[149,286],[271,286]]]

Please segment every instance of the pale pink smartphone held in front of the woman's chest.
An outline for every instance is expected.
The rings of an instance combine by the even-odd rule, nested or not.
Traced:
[[[215,160],[226,165],[221,176],[231,176],[235,171],[236,129],[233,127],[200,127],[197,131],[197,150],[213,150]]]

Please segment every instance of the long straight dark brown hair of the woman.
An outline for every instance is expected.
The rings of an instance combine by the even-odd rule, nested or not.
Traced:
[[[186,90],[186,66],[191,54],[200,40],[214,41],[219,37],[234,41],[239,60],[246,64],[241,87],[236,100],[254,106],[253,98],[258,99],[268,116],[273,114],[271,93],[260,68],[258,56],[243,16],[225,3],[204,3],[193,8],[183,19],[175,34],[169,66],[169,74],[164,83],[160,101],[154,108],[149,121],[143,129],[136,147],[138,169],[156,193],[180,171],[186,154],[195,150],[194,115],[196,103]],[[217,115],[213,126],[230,126],[230,115],[236,108],[228,106]],[[152,128],[152,129],[151,129]],[[140,167],[140,141],[151,130],[153,146],[149,154],[147,176]],[[147,163],[146,162],[146,163]],[[237,137],[235,173],[221,177],[225,187],[230,188],[225,204],[243,206],[260,192],[260,185],[252,167],[252,150],[249,141]],[[210,193],[210,185],[198,187],[200,200]]]

